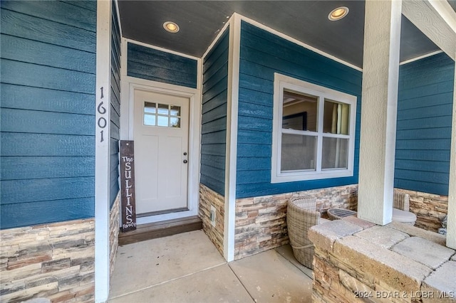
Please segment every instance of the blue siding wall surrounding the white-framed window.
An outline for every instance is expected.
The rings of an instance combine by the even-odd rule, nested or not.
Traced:
[[[357,184],[361,72],[244,21],[240,55],[237,198]],[[271,184],[274,73],[358,97],[352,177]]]

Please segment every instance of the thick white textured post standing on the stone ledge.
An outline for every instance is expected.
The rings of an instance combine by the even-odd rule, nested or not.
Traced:
[[[366,1],[358,217],[385,225],[393,216],[402,1]]]

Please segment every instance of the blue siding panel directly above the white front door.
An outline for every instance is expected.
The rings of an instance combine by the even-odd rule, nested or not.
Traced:
[[[197,60],[128,43],[127,75],[196,88]]]

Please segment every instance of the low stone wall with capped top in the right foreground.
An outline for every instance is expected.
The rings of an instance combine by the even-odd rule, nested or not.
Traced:
[[[313,302],[456,302],[445,236],[354,216],[316,225]]]

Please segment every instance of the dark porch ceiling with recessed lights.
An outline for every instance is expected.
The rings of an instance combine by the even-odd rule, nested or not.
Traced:
[[[449,0],[456,10],[456,0]],[[362,68],[364,1],[128,1],[119,0],[123,36],[135,41],[202,57],[234,12],[252,18],[314,48]],[[350,9],[340,21],[328,14]],[[162,24],[174,21],[178,33]],[[400,60],[439,50],[403,16]]]

